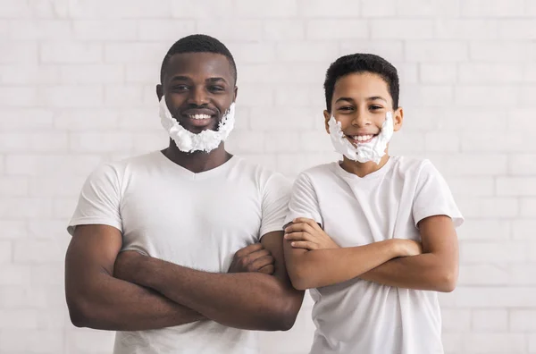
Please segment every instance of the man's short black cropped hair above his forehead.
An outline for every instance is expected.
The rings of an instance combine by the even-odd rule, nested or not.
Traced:
[[[235,83],[237,82],[237,65],[234,62],[234,58],[230,54],[229,49],[227,49],[227,46],[223,45],[223,43],[216,38],[203,34],[195,34],[180,38],[172,45],[170,50],[168,50],[163,58],[162,68],[160,69],[161,83],[163,83],[163,74],[172,56],[182,53],[216,53],[225,55],[230,63],[232,77],[235,80]]]

